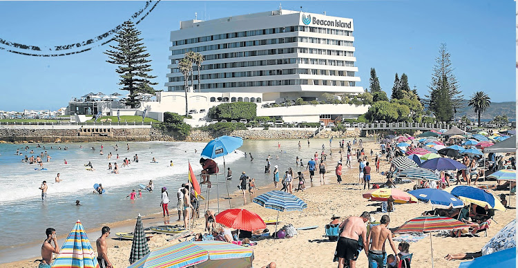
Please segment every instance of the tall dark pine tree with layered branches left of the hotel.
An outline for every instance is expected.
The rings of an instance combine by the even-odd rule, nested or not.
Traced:
[[[115,69],[121,77],[118,84],[122,86],[121,90],[129,91],[126,105],[131,108],[140,106],[140,101],[135,99],[137,93],[155,93],[150,85],[158,84],[149,80],[155,76],[148,75],[153,69],[150,68],[151,64],[148,64],[151,59],[147,59],[149,53],[146,53],[146,47],[141,42],[142,38],[139,38],[140,33],[133,22],[124,22],[114,39],[119,44],[110,46],[113,50],[104,52],[110,58],[106,62],[118,65]]]

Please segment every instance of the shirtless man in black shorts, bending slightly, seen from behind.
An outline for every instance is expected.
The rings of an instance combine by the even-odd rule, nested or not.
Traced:
[[[338,268],[343,268],[346,261],[349,261],[351,268],[356,268],[355,255],[358,253],[358,238],[362,238],[363,245],[367,245],[367,228],[365,222],[370,220],[370,213],[364,211],[360,217],[351,216],[340,223],[343,229],[338,238],[335,255],[338,256]],[[365,247],[367,255],[367,247]]]

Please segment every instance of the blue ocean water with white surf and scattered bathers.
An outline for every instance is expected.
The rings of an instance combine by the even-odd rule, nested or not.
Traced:
[[[279,148],[278,142],[274,140],[245,140],[240,149],[224,157],[234,177],[228,182],[229,190],[237,190],[242,171],[246,171],[250,178],[256,178],[258,186],[270,184],[273,174],[264,173],[268,155],[271,156],[271,171],[278,165],[280,172],[284,173],[288,167],[294,168],[295,172],[300,170],[300,167],[295,168],[296,156],[302,157],[306,165],[315,152],[320,154],[323,144],[326,153],[329,153],[329,140],[310,140],[309,145],[307,140],[300,140],[300,149],[298,141],[281,140]],[[114,150],[115,144],[118,145],[118,151]],[[193,171],[200,173],[200,153],[206,144],[129,142],[129,151],[126,149],[126,142],[40,144],[46,150],[36,148],[37,144],[0,144],[0,240],[3,241],[0,245],[0,256],[6,249],[41,242],[48,227],[55,228],[59,236],[68,233],[78,219],[88,230],[102,227],[108,222],[135,218],[139,213],[146,216],[160,212],[160,188],[166,186],[171,200],[175,200],[177,189],[187,180],[189,161]],[[28,151],[24,149],[26,145],[30,147]],[[68,150],[64,150],[65,146],[68,146]],[[104,147],[104,155],[99,155],[101,146]],[[338,139],[333,140],[332,148],[337,153]],[[46,157],[43,157],[44,168],[47,170],[37,171],[37,164],[21,162],[23,155],[15,155],[17,149],[28,157],[31,149],[34,150],[32,155],[35,157],[47,151],[52,157],[50,162],[46,162]],[[109,152],[113,153],[111,160],[106,159]],[[119,160],[116,159],[117,153]],[[253,162],[248,153],[253,155]],[[135,154],[139,156],[138,163],[133,162]],[[122,167],[125,157],[132,163]],[[151,163],[153,157],[158,161],[157,164]],[[68,164],[64,164],[64,160]],[[95,171],[86,170],[84,165],[88,161],[92,162]],[[174,166],[169,166],[170,161],[173,161]],[[117,162],[120,174],[108,171],[108,162]],[[218,157],[216,162],[222,172],[222,157]],[[59,183],[55,182],[57,173],[60,173],[62,180]],[[44,180],[48,183],[48,191],[46,201],[42,202],[39,186]],[[134,201],[126,198],[132,189],[140,189],[138,184],[146,185],[149,180],[153,180],[155,191],[150,193],[142,190],[142,198]],[[93,193],[95,183],[101,183],[106,193]],[[75,206],[75,200],[80,200],[80,207]],[[175,217],[175,204],[169,209],[172,218]],[[32,256],[26,256],[29,257]]]

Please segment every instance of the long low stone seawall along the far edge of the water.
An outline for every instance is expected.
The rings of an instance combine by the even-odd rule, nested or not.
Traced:
[[[229,135],[242,137],[245,140],[282,140],[315,138],[346,138],[357,137],[358,129],[349,131],[320,131],[315,135],[313,130],[301,129],[247,129],[232,131]],[[184,141],[207,142],[215,137],[207,131],[193,130]],[[90,133],[81,129],[35,129],[35,128],[2,128],[0,129],[1,143],[33,143],[33,142],[148,142],[148,141],[179,141],[157,128],[109,128],[96,129]]]

